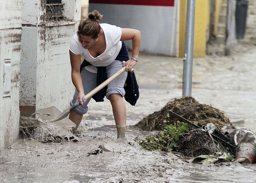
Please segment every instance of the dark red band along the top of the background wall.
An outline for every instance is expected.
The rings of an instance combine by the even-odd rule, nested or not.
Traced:
[[[174,6],[174,0],[89,0],[89,3]]]

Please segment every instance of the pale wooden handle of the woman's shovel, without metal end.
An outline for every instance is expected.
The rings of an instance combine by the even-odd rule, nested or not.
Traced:
[[[125,61],[122,62],[122,64]],[[113,81],[114,79],[116,79],[118,76],[120,76],[121,74],[123,74],[125,71],[125,67],[121,68],[119,71],[117,71],[115,74],[113,74],[112,76],[110,76],[106,81],[104,81],[103,83],[101,83],[99,86],[97,86],[96,88],[94,88],[91,92],[89,92],[87,95],[84,96],[84,98],[82,99],[83,101],[86,99],[91,98],[95,93],[99,92],[102,88],[104,88],[105,86],[107,86],[111,81]],[[134,72],[134,69],[132,68],[131,72]],[[79,101],[78,101],[79,102]]]

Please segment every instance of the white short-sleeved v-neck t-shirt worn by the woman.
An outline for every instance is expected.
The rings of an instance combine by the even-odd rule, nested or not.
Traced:
[[[102,28],[105,39],[106,39],[106,50],[94,58],[89,53],[87,49],[82,47],[82,44],[78,40],[77,34],[75,34],[69,44],[69,50],[76,55],[83,55],[84,59],[92,64],[92,66],[85,66],[84,68],[92,73],[97,73],[96,67],[107,67],[116,59],[119,51],[122,47],[121,38],[121,28],[114,25],[102,23],[100,24]]]

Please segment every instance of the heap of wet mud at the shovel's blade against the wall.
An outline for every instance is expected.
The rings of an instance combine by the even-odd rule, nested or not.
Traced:
[[[52,114],[42,113],[46,109]],[[30,117],[20,116],[20,137],[31,138],[41,142],[80,141],[72,133],[74,123],[68,118],[61,121],[51,122],[51,119],[58,117],[61,112],[54,106],[41,109]],[[46,110],[47,111],[47,110]],[[35,115],[35,118],[32,116]]]

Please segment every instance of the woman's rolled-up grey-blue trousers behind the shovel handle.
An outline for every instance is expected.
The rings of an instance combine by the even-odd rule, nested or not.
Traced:
[[[107,77],[109,78],[113,74],[115,74],[118,70],[122,68],[122,62],[119,60],[115,60],[112,64],[107,66],[106,72],[107,72]],[[82,77],[82,82],[83,82],[83,87],[84,87],[84,94],[86,95],[87,93],[91,92],[94,88],[97,87],[97,73],[92,73],[86,70],[85,68],[82,68],[81,70],[81,77]],[[107,89],[107,94],[106,97],[109,99],[109,96],[111,94],[120,94],[122,97],[125,95],[124,91],[124,83],[127,78],[127,72],[124,72],[122,75],[118,76],[115,80],[110,82],[108,84],[108,89]],[[78,95],[77,90],[75,90],[75,94],[73,96],[73,99],[70,100],[70,106],[72,106],[76,102],[76,97]],[[74,109],[75,112],[78,114],[85,114],[88,111],[88,103],[90,99],[87,99],[87,101],[84,103],[83,106],[78,106]]]

